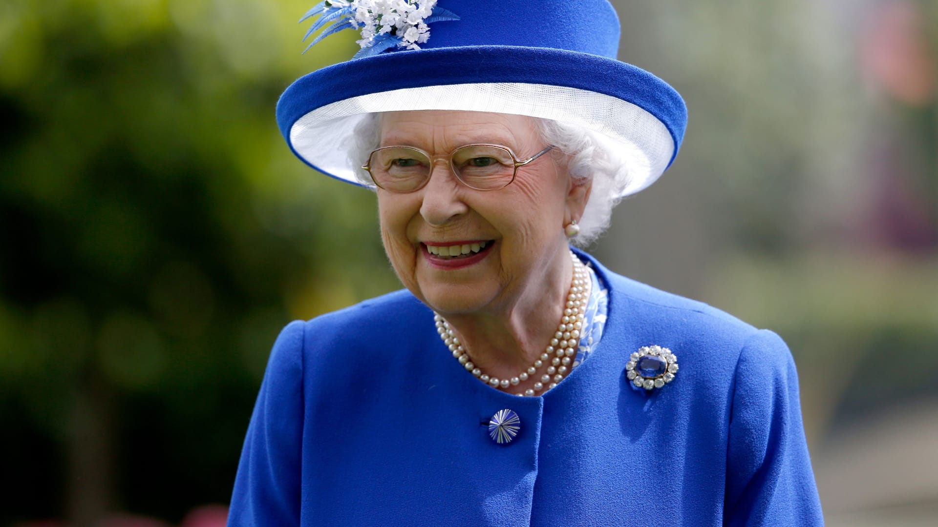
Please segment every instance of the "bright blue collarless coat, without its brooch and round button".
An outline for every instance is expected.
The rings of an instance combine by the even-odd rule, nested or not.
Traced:
[[[592,265],[605,333],[543,397],[480,383],[406,291],[287,325],[229,525],[823,524],[784,342]],[[680,370],[646,392],[624,372],[652,344]],[[495,444],[505,408],[522,428]]]

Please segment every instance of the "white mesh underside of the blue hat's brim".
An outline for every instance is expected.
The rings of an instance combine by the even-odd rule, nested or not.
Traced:
[[[313,167],[358,184],[361,160],[350,158],[356,125],[369,113],[409,110],[514,113],[590,129],[613,160],[628,167],[628,186],[620,196],[654,183],[674,153],[668,128],[642,108],[589,90],[535,83],[435,85],[346,98],[297,119],[290,128],[290,143]]]

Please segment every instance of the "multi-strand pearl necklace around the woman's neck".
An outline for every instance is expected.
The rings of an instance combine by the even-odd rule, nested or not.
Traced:
[[[493,388],[504,390],[509,386],[521,384],[529,378],[535,378],[537,370],[545,364],[549,364],[545,373],[540,376],[540,381],[535,383],[532,388],[528,388],[517,395],[534,397],[537,392],[550,390],[561,382],[571,369],[576,367],[575,363],[571,363],[576,358],[577,350],[580,348],[580,330],[582,330],[583,320],[585,319],[586,303],[592,285],[586,266],[580,262],[580,259],[572,251],[570,252],[570,258],[573,260],[573,280],[567,294],[564,315],[560,319],[560,325],[557,326],[557,331],[553,334],[550,344],[528,369],[510,379],[498,379],[483,373],[470,360],[469,354],[466,353],[460,339],[456,337],[456,332],[449,327],[449,323],[434,312],[433,321],[436,323],[436,332],[440,334],[440,339],[443,339],[446,347],[449,348],[449,351],[453,353],[453,356],[460,361],[465,369],[471,371],[478,380],[489,384]],[[554,356],[551,357],[551,355]]]

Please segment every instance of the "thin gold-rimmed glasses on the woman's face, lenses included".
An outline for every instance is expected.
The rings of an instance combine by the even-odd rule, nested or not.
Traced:
[[[515,180],[518,169],[543,156],[553,145],[534,156],[519,159],[500,144],[466,144],[446,156],[431,156],[414,146],[382,146],[371,151],[361,167],[371,174],[374,184],[391,192],[415,192],[430,181],[437,159],[448,159],[456,178],[468,188],[498,190]]]

